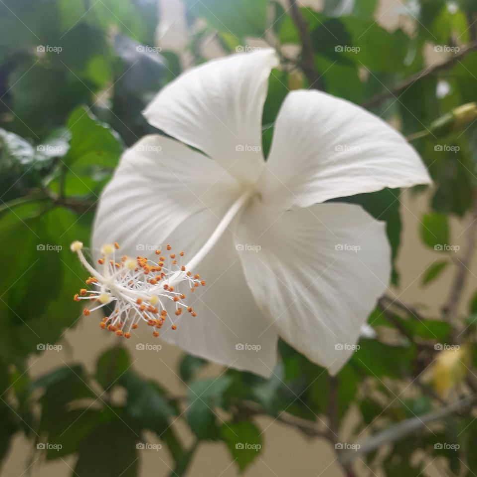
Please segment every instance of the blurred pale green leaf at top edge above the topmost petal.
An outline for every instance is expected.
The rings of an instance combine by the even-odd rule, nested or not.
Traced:
[[[186,0],[185,3],[192,15],[237,37],[262,36],[267,29],[266,0]]]

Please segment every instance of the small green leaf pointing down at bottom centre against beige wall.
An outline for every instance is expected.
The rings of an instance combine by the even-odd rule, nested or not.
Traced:
[[[262,439],[258,427],[249,421],[226,422],[220,427],[232,459],[243,472],[260,454]]]

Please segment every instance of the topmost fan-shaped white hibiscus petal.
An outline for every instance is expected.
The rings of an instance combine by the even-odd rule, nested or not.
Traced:
[[[253,181],[263,167],[262,110],[268,76],[277,65],[271,49],[209,61],[165,86],[144,115],[231,174]]]

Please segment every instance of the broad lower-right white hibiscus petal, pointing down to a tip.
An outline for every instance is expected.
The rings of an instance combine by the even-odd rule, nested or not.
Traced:
[[[242,216],[238,241],[248,285],[271,326],[337,373],[389,282],[384,223],[351,204],[282,214],[255,204]]]

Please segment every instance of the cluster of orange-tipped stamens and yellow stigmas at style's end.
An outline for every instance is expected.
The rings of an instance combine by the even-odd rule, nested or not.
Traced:
[[[131,331],[136,329],[140,322],[154,327],[153,336],[159,336],[159,329],[167,319],[171,320],[171,329],[177,329],[173,318],[168,318],[168,311],[174,310],[175,317],[182,315],[186,310],[192,317],[196,313],[185,303],[184,285],[190,292],[194,292],[205,281],[199,275],[192,273],[181,264],[184,252],[178,255],[170,253],[171,246],[166,246],[167,258],[161,255],[160,248],[156,254],[158,261],[138,256],[130,258],[126,255],[116,257],[119,244],[106,244],[101,247],[101,258],[97,260],[100,270],[91,266],[82,252],[83,244],[75,241],[71,250],[78,254],[79,261],[92,276],[86,280],[86,285],[94,287],[92,290],[82,288],[74,296],[74,300],[87,300],[93,307],[85,308],[83,315],[111,305],[114,311],[102,319],[99,326],[102,329],[115,332],[118,336],[131,337]]]

